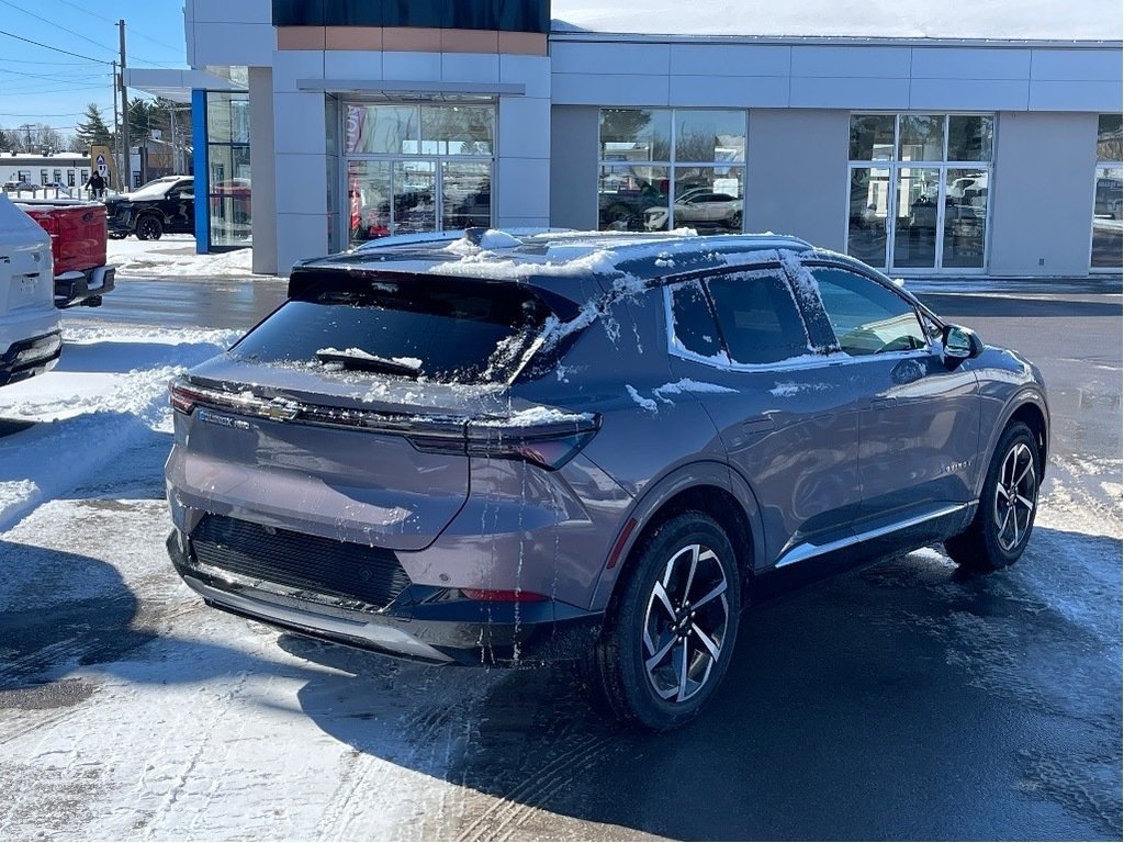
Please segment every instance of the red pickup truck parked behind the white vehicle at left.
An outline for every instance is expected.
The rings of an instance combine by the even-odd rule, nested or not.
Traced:
[[[20,199],[27,216],[51,235],[55,266],[55,307],[98,307],[114,289],[106,265],[106,206],[66,199]]]

